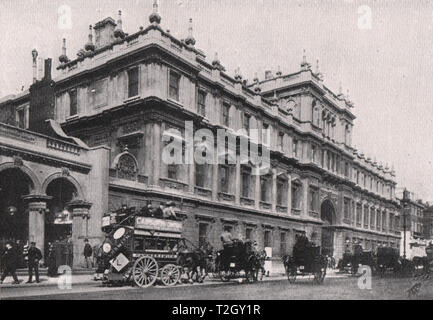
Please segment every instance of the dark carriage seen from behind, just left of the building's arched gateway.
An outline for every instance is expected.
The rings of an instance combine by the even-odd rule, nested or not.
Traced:
[[[328,265],[327,257],[321,254],[320,247],[309,242],[305,236],[297,239],[293,255],[285,255],[283,263],[290,283],[295,283],[298,275],[314,275],[313,283],[322,284]]]

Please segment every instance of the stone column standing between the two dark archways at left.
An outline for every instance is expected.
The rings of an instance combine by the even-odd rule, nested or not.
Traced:
[[[47,211],[47,202],[52,197],[45,195],[28,195],[23,200],[28,203],[29,210],[29,242],[36,242],[42,252],[44,259],[45,249],[45,212]]]

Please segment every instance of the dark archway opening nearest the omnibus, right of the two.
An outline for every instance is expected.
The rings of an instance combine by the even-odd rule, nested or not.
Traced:
[[[67,203],[77,197],[77,189],[65,178],[51,181],[46,193],[52,196],[45,216],[45,243],[66,242],[72,235],[72,213]]]

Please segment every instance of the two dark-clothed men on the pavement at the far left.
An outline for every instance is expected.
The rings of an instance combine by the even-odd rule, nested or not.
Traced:
[[[33,272],[35,273],[36,282],[39,283],[39,261],[42,259],[42,252],[36,247],[35,242],[30,243],[26,257],[29,271],[29,279],[27,283],[33,282]],[[14,279],[13,283],[20,284],[16,274],[16,270],[18,269],[20,263],[20,255],[12,242],[8,242],[6,244],[6,249],[2,254],[1,261],[3,272],[0,283],[3,283],[8,275],[11,275]]]

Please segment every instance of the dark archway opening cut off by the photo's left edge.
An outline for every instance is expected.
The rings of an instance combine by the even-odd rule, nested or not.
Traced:
[[[19,242],[24,245],[29,237],[29,214],[22,196],[28,195],[34,185],[19,168],[0,172],[0,242]],[[3,246],[2,246],[3,248]]]

